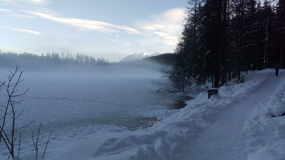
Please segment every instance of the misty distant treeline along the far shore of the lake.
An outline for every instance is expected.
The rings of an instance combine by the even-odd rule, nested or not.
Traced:
[[[92,56],[84,55],[84,54],[76,54],[73,57],[69,52],[58,54],[56,52],[50,52],[46,54],[41,54],[40,56],[37,54],[17,54],[13,52],[2,53],[0,54],[0,66],[6,67],[14,67],[14,65],[23,65],[30,67],[40,67],[40,66],[110,66],[110,65],[118,65],[118,64],[130,64],[136,66],[144,66],[147,65],[146,62],[152,63],[169,63],[174,56],[171,53],[162,54],[154,57],[143,58],[142,60],[135,60],[130,62],[109,62],[104,57],[102,58],[94,58]]]

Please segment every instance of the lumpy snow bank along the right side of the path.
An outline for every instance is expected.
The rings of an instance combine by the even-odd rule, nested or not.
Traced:
[[[267,69],[262,72],[275,71]],[[251,152],[248,155],[249,160],[285,159],[285,116],[282,116],[285,112],[284,91],[283,80],[268,99],[259,103],[253,115],[247,120],[244,130],[250,137],[249,148],[251,146],[259,148],[257,151],[249,150]]]

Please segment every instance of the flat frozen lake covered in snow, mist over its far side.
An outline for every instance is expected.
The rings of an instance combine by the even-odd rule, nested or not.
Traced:
[[[8,70],[1,70],[3,74],[8,75]],[[149,127],[156,119],[147,118],[147,115],[153,110],[167,110],[181,99],[156,93],[158,88],[151,80],[159,76],[156,69],[142,68],[92,72],[24,71],[25,81],[18,86],[18,92],[27,88],[29,91],[18,99],[25,100],[16,105],[18,110],[24,110],[17,126],[36,120],[36,124],[42,123],[43,132],[87,130],[98,125],[130,130]],[[2,103],[6,103],[5,95],[2,90]],[[29,126],[23,132],[30,130]]]

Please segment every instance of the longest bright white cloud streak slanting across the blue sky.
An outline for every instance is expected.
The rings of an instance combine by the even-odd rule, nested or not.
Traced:
[[[138,30],[133,29],[131,27],[119,26],[119,25],[102,22],[102,21],[96,21],[96,20],[61,17],[57,13],[52,12],[52,11],[47,11],[47,13],[30,11],[29,13],[34,16],[38,16],[40,18],[52,20],[58,23],[63,23],[68,26],[75,27],[81,31],[99,31],[99,32],[106,32],[106,33],[128,32],[131,34],[140,34]]]

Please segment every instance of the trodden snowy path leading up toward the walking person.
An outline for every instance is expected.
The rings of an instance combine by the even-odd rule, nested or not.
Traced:
[[[180,153],[176,154],[176,159],[246,159],[250,151],[246,142],[249,137],[243,128],[245,121],[258,105],[262,105],[271,97],[282,79],[283,73],[278,77],[268,76],[267,80],[255,89],[254,94],[235,101],[230,104],[233,106],[229,105],[227,109],[215,114],[211,118],[214,123],[190,140],[187,146],[183,146]]]

